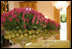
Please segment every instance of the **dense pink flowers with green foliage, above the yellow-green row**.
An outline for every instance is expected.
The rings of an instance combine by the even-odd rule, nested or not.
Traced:
[[[24,30],[37,29],[41,27],[49,30],[59,30],[59,24],[55,21],[45,18],[41,13],[28,8],[14,8],[1,16],[1,26],[6,30]],[[36,29],[35,28],[35,29]]]

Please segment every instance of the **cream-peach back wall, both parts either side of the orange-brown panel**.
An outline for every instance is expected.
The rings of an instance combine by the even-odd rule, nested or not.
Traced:
[[[19,2],[9,1],[9,10],[12,10],[14,7],[18,8]],[[51,1],[37,1],[37,10],[44,16],[54,20],[54,7]]]

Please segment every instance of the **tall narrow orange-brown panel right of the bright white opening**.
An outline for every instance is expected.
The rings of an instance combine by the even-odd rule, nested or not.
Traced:
[[[67,39],[71,40],[71,4],[67,7]]]

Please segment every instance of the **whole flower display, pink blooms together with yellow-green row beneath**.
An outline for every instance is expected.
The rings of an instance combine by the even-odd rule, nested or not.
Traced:
[[[55,21],[45,18],[42,13],[31,8],[14,8],[4,13],[1,15],[1,26],[6,30],[7,39],[33,39],[42,36],[42,33],[60,29],[60,25]]]

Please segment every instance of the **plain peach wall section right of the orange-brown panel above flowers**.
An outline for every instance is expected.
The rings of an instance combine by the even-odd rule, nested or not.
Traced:
[[[48,18],[54,20],[54,7],[51,1],[38,1],[37,10]]]

